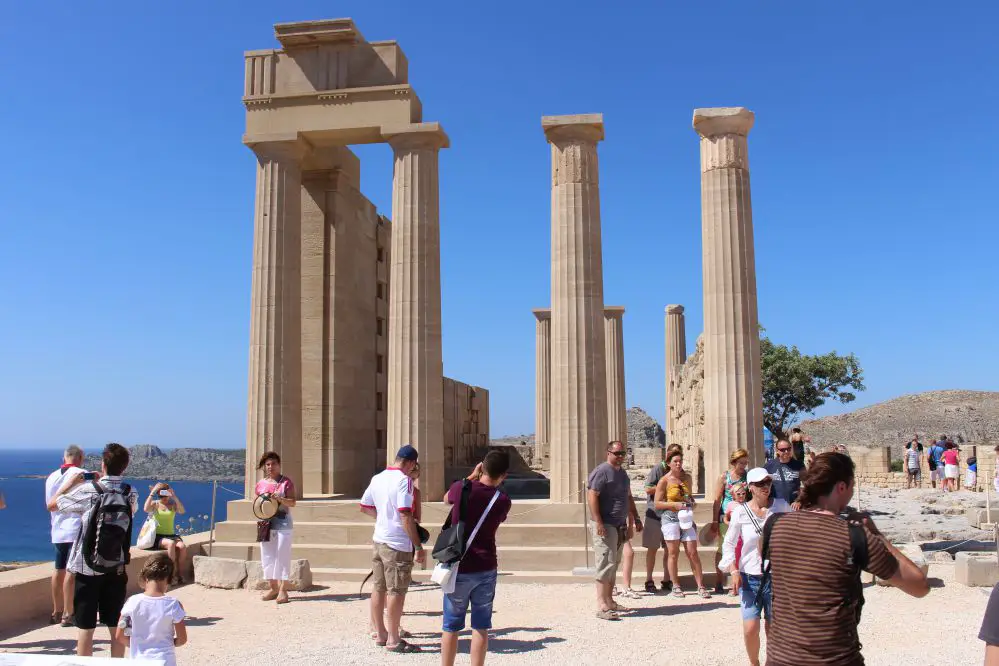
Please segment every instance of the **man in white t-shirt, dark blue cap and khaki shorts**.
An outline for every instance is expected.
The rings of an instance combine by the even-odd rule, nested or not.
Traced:
[[[374,542],[371,623],[378,634],[376,644],[392,652],[420,651],[399,637],[413,561],[422,563],[427,556],[413,518],[413,480],[409,477],[418,458],[415,448],[403,446],[395,456],[395,464],[376,474],[361,497],[361,512],[375,519],[375,534],[371,539]]]

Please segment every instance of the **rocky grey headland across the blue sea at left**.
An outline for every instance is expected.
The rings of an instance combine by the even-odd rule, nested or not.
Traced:
[[[128,447],[131,460],[125,476],[156,481],[242,481],[246,469],[243,449],[173,449],[151,444]],[[84,467],[101,468],[100,455],[87,456]]]

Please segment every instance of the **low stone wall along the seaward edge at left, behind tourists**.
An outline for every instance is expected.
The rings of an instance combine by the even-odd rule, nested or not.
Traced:
[[[194,578],[194,556],[207,552],[209,533],[201,532],[184,537],[187,556],[181,566],[184,578]],[[132,549],[132,561],[127,567],[128,591],[139,591],[139,570],[150,557],[162,551]],[[22,567],[0,572],[0,637],[17,625],[44,622],[52,612],[52,563]]]

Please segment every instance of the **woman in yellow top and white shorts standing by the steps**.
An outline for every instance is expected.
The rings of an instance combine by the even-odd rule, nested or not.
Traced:
[[[697,526],[694,525],[694,496],[690,494],[691,476],[683,471],[683,453],[673,451],[666,459],[669,471],[656,484],[655,507],[661,514],[663,539],[666,541],[666,568],[673,581],[673,596],[683,598],[678,562],[680,542],[697,581],[697,593],[702,599],[711,597],[704,587],[704,572],[697,554]]]

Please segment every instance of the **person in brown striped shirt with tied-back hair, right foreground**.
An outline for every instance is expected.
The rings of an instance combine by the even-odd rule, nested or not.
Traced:
[[[929,592],[926,574],[870,516],[849,511],[853,488],[850,457],[823,453],[802,473],[801,510],[764,525],[760,554],[773,590],[767,666],[864,663],[861,571],[914,597]]]

